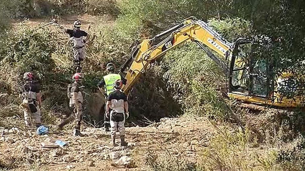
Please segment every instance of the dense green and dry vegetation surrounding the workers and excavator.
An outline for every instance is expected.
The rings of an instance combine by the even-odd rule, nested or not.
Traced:
[[[57,118],[54,114],[69,112],[65,99],[66,84],[73,73],[69,43],[54,26],[34,30],[21,23],[6,33],[4,30],[10,29],[9,18],[39,16],[32,8],[33,1],[18,2],[0,4],[0,29],[4,37],[0,40],[0,91],[8,94],[0,94],[0,105],[5,106],[4,110],[0,109],[0,115],[16,114],[21,75],[33,71],[43,85],[44,121],[54,124]],[[301,0],[122,0],[117,3],[50,0],[46,3],[50,9],[46,9],[45,15],[54,9],[54,15],[59,18],[61,14],[84,12],[106,13],[116,18],[114,26],[97,24],[90,30],[96,38],[87,49],[83,68],[89,95],[106,74],[107,62],[123,64],[136,40],[152,37],[189,16],[208,21],[229,41],[239,37],[259,40],[263,45],[256,52],[259,58],[275,61],[276,70],[270,74],[291,72],[286,80],[288,89],[305,84],[304,77],[295,80],[296,75],[305,75],[305,2]],[[66,10],[66,6],[71,8]],[[134,120],[142,123],[147,121],[144,116],[157,121],[185,113],[209,116],[212,122],[237,124],[235,131],[223,131],[202,152],[202,162],[198,163],[201,170],[303,170],[305,113],[263,111],[253,116],[249,110],[236,107],[234,100],[224,99],[219,91],[224,87],[224,74],[217,65],[195,44],[187,43],[156,61],[141,83],[136,84],[130,96],[131,113]],[[304,88],[282,91],[302,96],[305,102]],[[88,106],[85,110],[88,113]],[[256,147],[263,150],[258,152]]]

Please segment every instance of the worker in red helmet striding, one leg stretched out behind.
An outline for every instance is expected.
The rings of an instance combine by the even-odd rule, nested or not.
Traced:
[[[81,116],[82,116],[82,103],[83,103],[83,95],[82,95],[82,88],[81,85],[82,81],[82,74],[75,73],[72,76],[74,82],[68,86],[67,95],[69,98],[69,107],[72,110],[72,113],[69,117],[64,119],[59,125],[58,128],[61,130],[63,127],[74,120],[74,136],[83,136],[81,134]]]

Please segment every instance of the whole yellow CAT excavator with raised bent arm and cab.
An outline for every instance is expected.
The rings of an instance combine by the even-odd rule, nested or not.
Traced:
[[[169,36],[162,38],[166,35]],[[156,43],[155,41],[160,38],[161,40]],[[198,44],[217,65],[224,69],[228,84],[226,93],[229,97],[248,103],[279,107],[304,105],[300,97],[286,95],[287,91],[295,91],[293,88],[287,88],[287,85],[283,83],[291,76],[289,73],[272,78],[275,76],[270,74],[273,69],[270,61],[250,55],[251,47],[255,46],[253,41],[240,38],[230,43],[207,23],[195,17],[185,19],[177,26],[152,39],[143,40],[133,48],[128,60],[120,68],[120,72],[127,72],[125,76],[127,84],[123,87],[123,91],[128,94],[153,61],[187,41]],[[214,55],[209,49],[220,57]],[[127,67],[129,68],[126,71]]]

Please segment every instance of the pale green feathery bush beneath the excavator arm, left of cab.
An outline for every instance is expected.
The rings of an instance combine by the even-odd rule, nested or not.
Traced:
[[[184,44],[163,60],[167,88],[185,112],[224,117],[226,105],[216,90],[224,86],[224,74],[199,47]]]

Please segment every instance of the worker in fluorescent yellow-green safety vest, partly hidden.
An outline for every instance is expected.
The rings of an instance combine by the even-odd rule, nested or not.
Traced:
[[[113,63],[108,63],[106,65],[106,69],[109,72],[109,74],[105,75],[103,79],[99,82],[97,85],[99,88],[104,88],[105,89],[105,96],[106,99],[108,98],[109,94],[116,89],[113,87],[113,84],[117,80],[122,80],[123,84],[126,84],[126,79],[122,78],[120,74],[115,73],[115,65]],[[109,132],[109,126],[110,126],[110,120],[109,118],[106,117],[106,113],[104,113],[104,127],[105,131]]]

